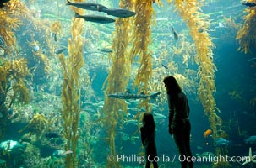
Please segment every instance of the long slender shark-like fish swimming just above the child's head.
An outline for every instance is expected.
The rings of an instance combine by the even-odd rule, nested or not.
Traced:
[[[150,95],[145,95],[144,92],[140,94],[132,94],[129,92],[116,92],[114,94],[109,94],[108,97],[118,98],[118,99],[140,99],[140,98],[155,98],[160,94],[160,92],[155,92]]]

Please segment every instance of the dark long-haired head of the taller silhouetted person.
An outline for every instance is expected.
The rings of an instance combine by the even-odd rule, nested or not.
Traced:
[[[175,77],[166,76],[163,80],[167,93],[178,93],[182,92],[182,88],[178,85]]]

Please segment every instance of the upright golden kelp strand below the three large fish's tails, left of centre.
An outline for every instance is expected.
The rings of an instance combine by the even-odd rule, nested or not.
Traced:
[[[63,66],[63,118],[64,137],[67,139],[66,150],[72,150],[73,155],[66,157],[66,167],[78,166],[76,158],[77,143],[79,133],[79,113],[80,113],[80,84],[79,71],[84,65],[83,49],[84,40],[82,38],[84,20],[73,18],[71,39],[68,39],[68,59],[61,54],[59,59]]]

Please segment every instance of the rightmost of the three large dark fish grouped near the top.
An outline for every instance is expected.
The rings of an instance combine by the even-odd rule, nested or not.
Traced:
[[[129,18],[136,14],[133,11],[124,8],[101,8],[99,12],[103,12],[118,18]]]

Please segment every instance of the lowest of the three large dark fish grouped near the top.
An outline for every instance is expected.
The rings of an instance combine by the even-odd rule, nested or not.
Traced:
[[[97,15],[79,15],[79,13],[75,13],[74,18],[84,18],[85,21],[95,22],[98,24],[109,24],[115,22],[116,20],[113,18],[108,18],[106,16],[97,16]]]

